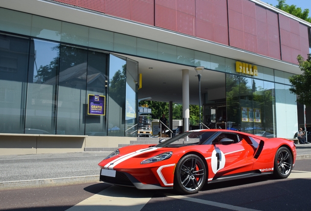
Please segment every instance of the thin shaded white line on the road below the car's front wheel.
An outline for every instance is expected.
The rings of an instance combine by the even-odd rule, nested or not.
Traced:
[[[218,203],[218,202],[213,202],[213,201],[207,201],[207,200],[202,200],[202,199],[197,199],[197,198],[192,198],[192,197],[187,197],[187,196],[181,196],[181,195],[175,195],[175,196],[174,195],[170,195],[170,196],[168,195],[168,197],[186,200],[186,201],[191,201],[191,202],[200,203],[200,204],[205,204],[205,205],[210,205],[210,206],[219,207],[219,208],[225,208],[225,209],[234,210],[234,211],[258,211],[258,210],[238,207],[238,206],[234,206],[234,205],[228,205],[228,204],[223,204],[223,203]]]

